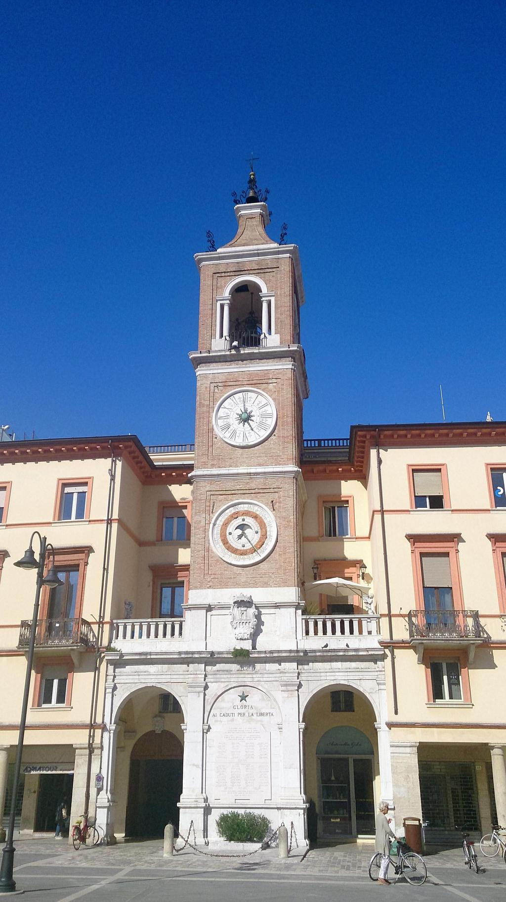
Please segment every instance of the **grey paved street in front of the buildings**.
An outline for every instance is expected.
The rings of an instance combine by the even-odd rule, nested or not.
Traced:
[[[95,897],[104,902],[140,899],[161,902],[177,897],[182,902],[253,902],[276,900],[338,899],[347,902],[375,900],[391,895],[403,902],[420,898],[427,902],[503,902],[506,865],[502,860],[479,856],[483,873],[474,874],[462,864],[460,850],[426,856],[427,883],[420,888],[399,879],[391,888],[371,882],[367,868],[372,855],[369,843],[341,845],[310,851],[301,861],[288,861],[277,850],[257,852],[248,858],[216,858],[181,851],[164,859],[162,843],[136,842],[110,848],[74,851],[67,842],[54,839],[16,840],[14,877],[32,902],[74,902]],[[296,850],[295,850],[296,852]],[[392,876],[392,875],[391,875]]]

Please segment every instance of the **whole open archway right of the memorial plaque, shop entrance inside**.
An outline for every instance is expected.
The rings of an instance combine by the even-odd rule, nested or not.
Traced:
[[[312,698],[304,722],[304,783],[314,813],[310,838],[324,843],[373,836],[380,786],[372,704],[351,688],[328,689]]]

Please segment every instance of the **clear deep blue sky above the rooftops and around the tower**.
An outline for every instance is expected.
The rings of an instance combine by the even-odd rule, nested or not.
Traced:
[[[17,0],[0,14],[0,419],[194,437],[198,274],[259,157],[299,244],[306,437],[506,419],[506,6]]]

